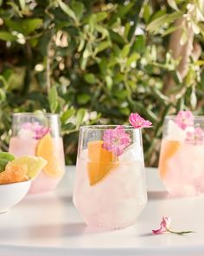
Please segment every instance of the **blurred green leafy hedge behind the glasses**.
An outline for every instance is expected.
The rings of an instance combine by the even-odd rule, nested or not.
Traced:
[[[0,1],[1,149],[12,112],[43,109],[61,115],[72,164],[80,125],[123,124],[138,112],[154,124],[143,145],[146,165],[156,166],[164,116],[187,108],[203,114],[203,53],[189,58],[181,78],[168,47],[184,17],[203,49],[202,13],[199,0]],[[168,91],[167,75],[175,80]]]

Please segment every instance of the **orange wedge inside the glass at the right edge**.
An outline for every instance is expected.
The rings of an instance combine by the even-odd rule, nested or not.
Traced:
[[[159,158],[159,173],[163,179],[167,174],[167,162],[180,147],[179,141],[162,141],[161,154]]]

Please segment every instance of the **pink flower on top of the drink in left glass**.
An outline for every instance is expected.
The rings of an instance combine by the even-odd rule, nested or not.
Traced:
[[[41,126],[38,121],[25,122],[22,124],[22,128],[28,129],[31,132],[33,132],[33,138],[35,140],[40,140],[44,135],[47,135],[50,131],[50,128]]]

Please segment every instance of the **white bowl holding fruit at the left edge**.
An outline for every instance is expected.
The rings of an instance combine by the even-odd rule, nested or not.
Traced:
[[[0,184],[0,213],[15,206],[28,193],[31,180],[10,184]]]

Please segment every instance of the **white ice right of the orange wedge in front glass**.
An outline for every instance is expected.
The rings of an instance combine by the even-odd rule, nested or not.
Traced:
[[[143,161],[143,148],[137,143],[124,149],[124,153],[118,156],[119,161]]]

